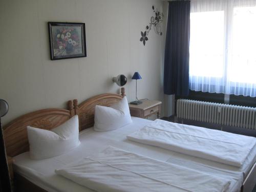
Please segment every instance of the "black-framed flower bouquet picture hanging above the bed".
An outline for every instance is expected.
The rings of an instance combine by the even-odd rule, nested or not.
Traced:
[[[48,22],[51,60],[86,57],[86,24]]]

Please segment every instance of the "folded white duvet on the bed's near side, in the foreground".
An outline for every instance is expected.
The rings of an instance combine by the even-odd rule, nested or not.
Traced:
[[[108,147],[55,170],[96,191],[228,191],[230,180]]]

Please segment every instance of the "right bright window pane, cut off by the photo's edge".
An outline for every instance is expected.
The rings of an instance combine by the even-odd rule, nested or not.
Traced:
[[[256,83],[256,7],[233,9],[228,80]]]

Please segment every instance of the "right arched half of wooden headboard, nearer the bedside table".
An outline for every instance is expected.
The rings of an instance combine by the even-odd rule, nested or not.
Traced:
[[[110,106],[125,96],[124,88],[121,88],[121,95],[106,93],[91,97],[78,105],[74,100],[75,114],[79,116],[79,131],[92,127],[94,125],[95,105]]]

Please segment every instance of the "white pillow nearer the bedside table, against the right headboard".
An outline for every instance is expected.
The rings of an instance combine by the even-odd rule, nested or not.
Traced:
[[[123,97],[118,103],[111,106],[95,106],[95,131],[105,132],[116,130],[132,122],[126,97]]]

